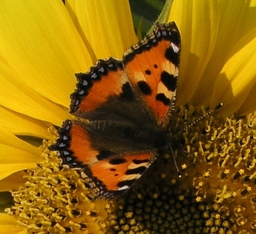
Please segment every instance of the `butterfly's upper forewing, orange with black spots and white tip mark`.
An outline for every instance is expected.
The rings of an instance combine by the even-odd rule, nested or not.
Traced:
[[[175,106],[180,64],[180,34],[174,22],[156,23],[152,34],[123,56],[124,70],[139,97],[162,126]]]

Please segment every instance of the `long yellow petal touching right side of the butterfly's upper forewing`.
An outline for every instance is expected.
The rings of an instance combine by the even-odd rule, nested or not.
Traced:
[[[195,93],[214,49],[219,23],[217,1],[174,1],[167,21],[175,21],[181,33],[177,105],[184,105]]]

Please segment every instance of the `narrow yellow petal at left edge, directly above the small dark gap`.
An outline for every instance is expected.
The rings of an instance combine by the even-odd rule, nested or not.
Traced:
[[[30,118],[0,106],[0,128],[15,135],[35,136],[42,139],[51,139],[52,135],[47,131],[50,124]]]

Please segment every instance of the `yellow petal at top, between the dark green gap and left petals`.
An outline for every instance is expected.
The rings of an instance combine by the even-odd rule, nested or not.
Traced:
[[[129,1],[65,1],[84,43],[98,58],[121,58],[137,42]]]

